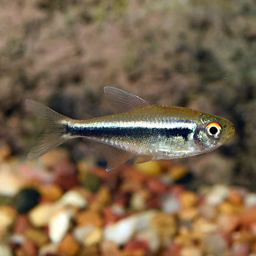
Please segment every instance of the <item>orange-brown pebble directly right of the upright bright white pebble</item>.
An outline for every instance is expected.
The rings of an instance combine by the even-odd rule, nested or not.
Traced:
[[[92,224],[96,227],[101,227],[103,225],[103,219],[98,212],[93,210],[84,210],[77,214],[76,222],[79,226]]]

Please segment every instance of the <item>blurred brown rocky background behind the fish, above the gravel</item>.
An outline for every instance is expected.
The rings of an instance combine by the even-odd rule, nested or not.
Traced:
[[[42,132],[24,99],[69,117],[112,113],[106,85],[234,123],[186,159],[197,184],[256,184],[255,0],[1,0],[0,146],[26,159]],[[102,156],[67,142],[74,161]]]

